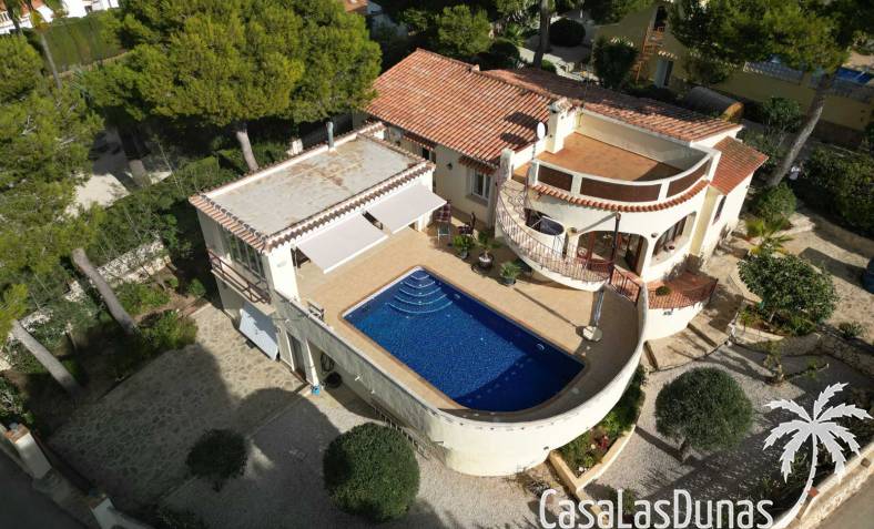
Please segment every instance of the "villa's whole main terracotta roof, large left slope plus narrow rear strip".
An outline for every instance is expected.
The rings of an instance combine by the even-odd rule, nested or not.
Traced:
[[[424,139],[476,160],[497,164],[504,149],[518,151],[535,140],[549,104],[582,105],[683,141],[700,140],[740,125],[648,99],[638,99],[542,70],[491,70],[416,50],[376,80],[367,112]]]

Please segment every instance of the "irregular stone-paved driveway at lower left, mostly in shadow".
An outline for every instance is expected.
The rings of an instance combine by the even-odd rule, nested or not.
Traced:
[[[196,344],[162,354],[79,408],[49,439],[122,508],[154,502],[181,484],[185,457],[203,431],[248,434],[304,388],[282,364],[250,347],[214,306],[193,318]]]

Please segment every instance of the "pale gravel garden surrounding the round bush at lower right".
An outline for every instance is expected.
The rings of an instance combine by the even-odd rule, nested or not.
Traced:
[[[762,367],[764,355],[735,346],[721,347],[713,355],[685,366],[650,375],[647,400],[632,439],[618,460],[587,487],[586,491],[603,498],[606,486],[634,489],[641,498],[667,499],[674,489],[689,490],[695,499],[740,499],[761,476],[779,470],[781,446],[763,450],[772,427],[786,419],[784,411],[771,411],[764,405],[774,399],[794,399],[805,408],[819,393],[834,383],[851,387],[872,387],[872,380],[850,366],[831,357],[784,357],[786,373],[804,369],[813,358],[825,359],[830,367],[815,378],[800,377],[781,386],[765,384],[769,372]],[[718,454],[693,454],[685,465],[677,458],[677,444],[656,430],[656,396],[659,389],[680,374],[695,367],[725,369],[741,385],[755,410],[750,436],[733,450]],[[848,398],[848,389],[837,395]],[[840,400],[839,400],[840,401]]]

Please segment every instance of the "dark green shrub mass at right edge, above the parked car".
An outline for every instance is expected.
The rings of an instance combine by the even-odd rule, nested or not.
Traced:
[[[807,205],[864,235],[874,235],[874,156],[816,149],[793,186]]]

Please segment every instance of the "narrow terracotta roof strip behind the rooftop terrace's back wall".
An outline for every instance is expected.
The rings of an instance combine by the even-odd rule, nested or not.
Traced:
[[[485,75],[501,79],[552,98],[568,98],[576,105],[630,125],[682,141],[697,141],[739,129],[736,123],[710,118],[661,101],[614,92],[596,84],[562,78],[532,68],[490,70]]]

